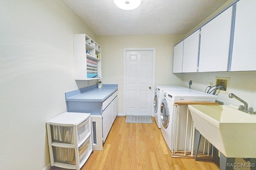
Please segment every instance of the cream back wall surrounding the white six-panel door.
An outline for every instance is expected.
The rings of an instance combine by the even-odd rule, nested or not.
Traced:
[[[182,80],[172,74],[173,46],[184,35],[98,36],[102,46],[102,77],[104,84],[118,84],[118,113],[124,113],[124,48],[156,47],[156,85],[179,85]]]

